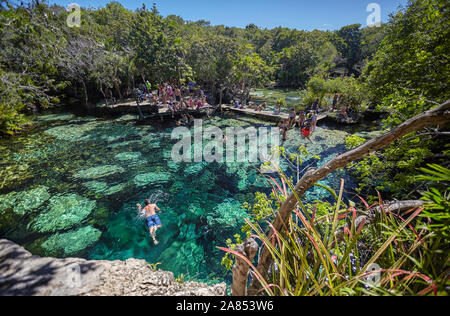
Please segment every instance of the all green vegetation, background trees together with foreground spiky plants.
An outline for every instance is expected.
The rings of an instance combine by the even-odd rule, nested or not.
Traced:
[[[146,80],[153,87],[194,81],[212,103],[236,95],[248,98],[250,89],[257,87],[298,89],[304,105],[317,98],[320,104],[330,105],[339,93],[349,112],[384,114],[383,131],[450,99],[450,2],[446,0],[410,0],[380,27],[353,24],[336,31],[213,26],[204,20],[163,17],[155,6],[130,11],[117,2],[82,9],[79,27],[68,26],[71,14],[37,0],[20,6],[0,0],[0,137],[13,137],[31,126],[31,114],[55,106],[86,108],[104,99],[127,98]],[[382,260],[392,273],[402,271],[405,277],[398,287],[386,278],[385,287],[369,294],[447,293],[449,135],[448,126],[427,128],[349,166],[360,179],[358,191],[367,211],[372,203],[382,207],[382,199],[427,201],[425,209],[406,220],[389,213],[371,226],[357,225],[356,209],[341,200],[342,186],[339,196],[334,194],[336,204],[303,206],[305,214],[316,218],[298,213],[290,230],[280,232],[285,246],[277,253],[256,225],[273,219],[270,216],[287,191],[275,190],[269,197],[257,194],[256,203],[247,205],[253,221],[244,232],[256,233],[273,247],[274,260],[279,260],[279,275],[273,275],[279,287],[269,294],[367,294],[364,286],[356,288],[358,280],[336,282],[335,288],[325,282],[339,273],[365,271],[348,256],[357,253],[358,243],[368,245],[374,261]],[[347,149],[365,141],[351,136]],[[294,184],[283,179],[285,186]],[[329,232],[323,221],[333,210],[336,217]],[[345,215],[348,222],[341,234],[342,247],[333,244],[338,215]],[[308,230],[300,229],[299,223]],[[407,226],[412,228],[405,233]],[[240,238],[236,236],[236,243],[242,242]],[[309,254],[317,259],[311,271],[296,270],[298,258],[305,262],[311,258],[292,240],[305,244],[311,240]],[[314,248],[318,241],[322,245]],[[230,248],[232,243],[230,239]],[[231,266],[227,259],[224,262]],[[417,277],[421,281],[412,282]],[[299,284],[291,288],[295,280]],[[389,286],[390,292],[385,292]]]

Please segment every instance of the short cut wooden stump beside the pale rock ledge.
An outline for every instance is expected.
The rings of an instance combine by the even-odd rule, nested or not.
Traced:
[[[246,256],[252,262],[258,251],[258,244],[253,238],[247,239],[243,244],[239,244],[234,249],[235,251]],[[236,257],[236,262],[233,265],[233,285],[231,286],[232,296],[247,296],[247,281],[250,273],[250,266],[243,259]]]

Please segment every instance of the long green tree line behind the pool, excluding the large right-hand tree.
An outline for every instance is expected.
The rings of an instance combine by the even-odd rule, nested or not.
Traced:
[[[163,17],[156,7],[132,12],[117,2],[82,9],[80,27],[71,28],[73,13],[40,1],[2,2],[0,10],[3,134],[24,126],[26,109],[122,98],[143,79],[153,86],[193,80],[214,102],[235,88],[305,88],[318,74],[359,76],[386,28],[241,29]]]

